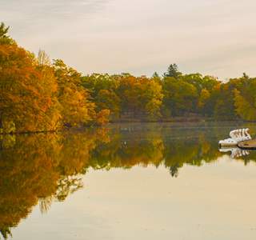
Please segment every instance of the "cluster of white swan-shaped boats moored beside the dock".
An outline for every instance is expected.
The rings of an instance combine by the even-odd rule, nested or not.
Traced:
[[[251,140],[249,128],[230,131],[230,138],[218,142],[220,147],[238,146],[239,142]]]

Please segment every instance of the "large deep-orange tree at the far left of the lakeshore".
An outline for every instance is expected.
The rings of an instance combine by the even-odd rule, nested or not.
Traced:
[[[1,34],[0,40],[0,127],[4,133],[53,130],[56,82],[50,70],[39,67],[33,54]],[[46,72],[48,73],[46,74]],[[45,88],[47,86],[47,89]],[[57,114],[58,115],[58,114]]]

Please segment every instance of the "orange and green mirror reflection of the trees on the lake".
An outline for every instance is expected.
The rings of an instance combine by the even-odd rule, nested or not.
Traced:
[[[81,176],[94,170],[165,166],[173,177],[185,164],[202,166],[222,154],[218,128],[123,127],[58,134],[0,137],[0,231],[3,238],[39,203],[46,213],[82,188]],[[255,152],[232,149],[247,164]]]

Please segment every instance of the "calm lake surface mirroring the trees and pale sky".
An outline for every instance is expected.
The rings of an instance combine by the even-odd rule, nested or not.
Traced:
[[[255,239],[256,152],[218,150],[237,127],[0,137],[0,239]]]

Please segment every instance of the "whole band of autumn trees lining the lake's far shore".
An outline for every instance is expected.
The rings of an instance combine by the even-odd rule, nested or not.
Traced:
[[[182,74],[171,64],[151,78],[131,74],[82,75],[18,46],[0,25],[0,133],[58,130],[109,121],[178,118],[256,120],[256,78],[219,81]]]

